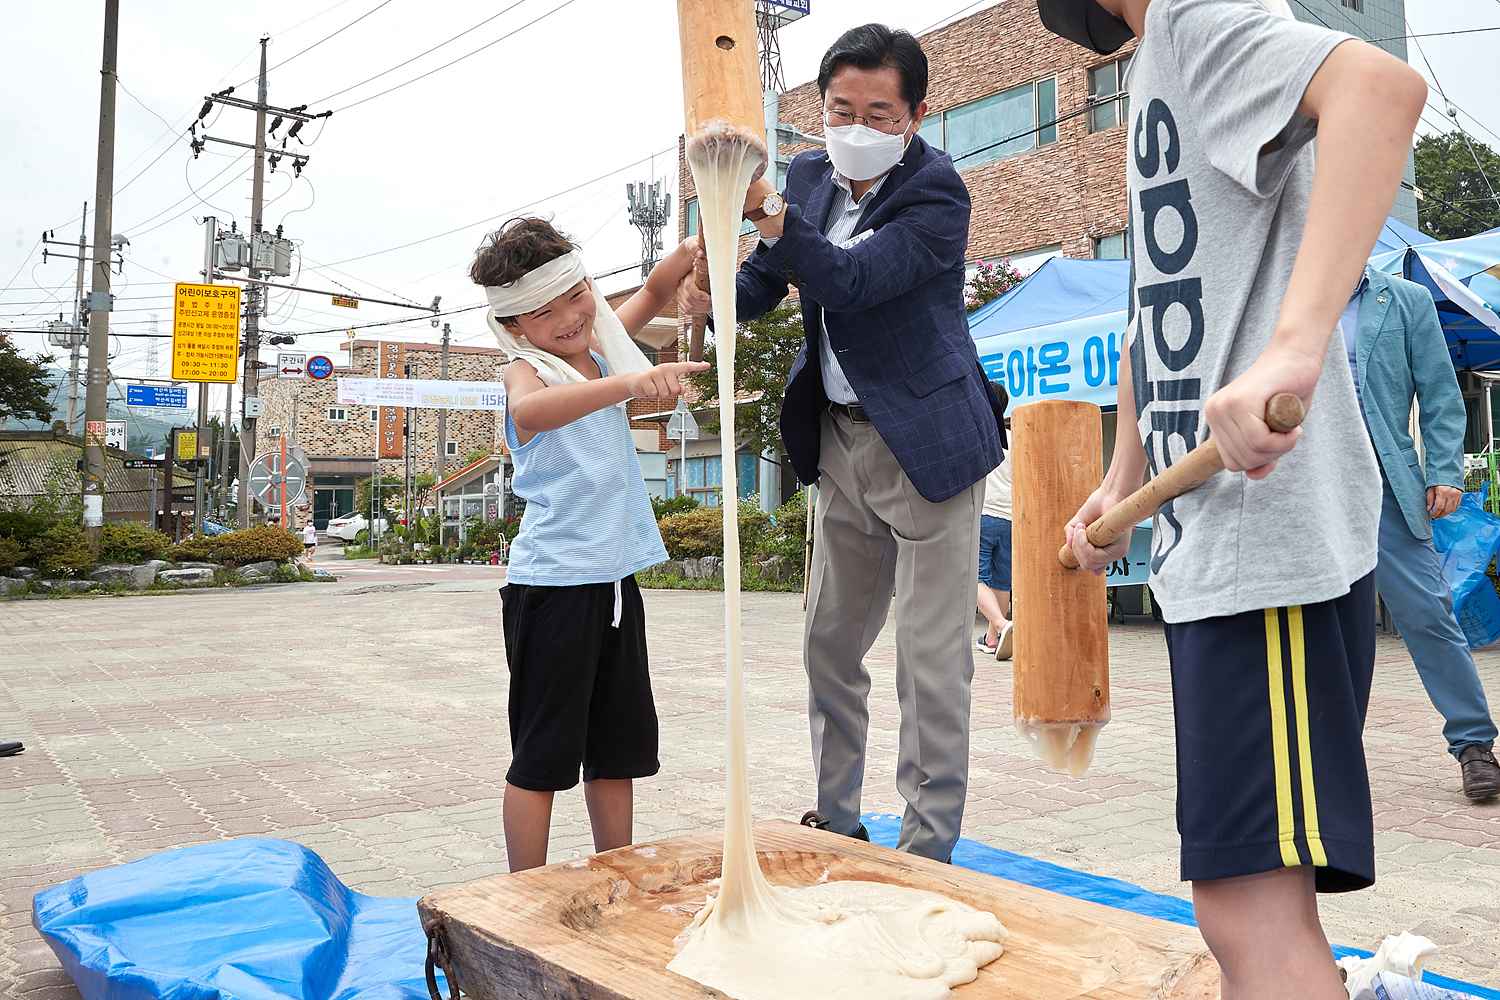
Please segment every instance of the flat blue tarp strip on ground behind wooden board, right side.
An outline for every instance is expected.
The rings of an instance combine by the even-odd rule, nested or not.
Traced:
[[[867,814],[861,817],[861,820],[864,822],[866,829],[870,831],[872,843],[880,844],[882,847],[896,847],[896,841],[902,832],[902,817]],[[954,847],[952,852],[952,864],[960,868],[969,868],[970,871],[982,871],[999,879],[1018,882],[1023,886],[1034,886],[1036,889],[1058,892],[1076,900],[1088,900],[1089,903],[1110,906],[1116,910],[1130,910],[1131,913],[1154,916],[1160,921],[1172,921],[1173,924],[1185,924],[1188,927],[1197,927],[1198,924],[1192,916],[1192,903],[1188,900],[1150,892],[1137,885],[1120,882],[1119,879],[1090,876],[1086,871],[1074,871],[1072,868],[1064,868],[1062,865],[1053,865],[1052,862],[1036,861],[1035,858],[1026,858],[1024,855],[1014,855],[1008,850],[999,850],[998,847],[986,847],[984,844],[972,840],[958,841],[958,846]],[[1359,955],[1360,958],[1368,958],[1371,952],[1360,951],[1358,948],[1335,948],[1334,955],[1336,958],[1342,958],[1344,955]],[[1422,976],[1422,982],[1442,987],[1444,990],[1454,990],[1456,993],[1466,993],[1468,996],[1479,997],[1480,1000],[1500,1000],[1500,990],[1476,987],[1473,984],[1449,979],[1448,976],[1425,973]]]

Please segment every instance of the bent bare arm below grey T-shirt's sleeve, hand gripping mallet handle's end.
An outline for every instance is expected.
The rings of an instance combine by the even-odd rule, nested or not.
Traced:
[[[1263,478],[1300,429],[1266,426],[1266,400],[1312,399],[1328,340],[1384,225],[1412,151],[1426,82],[1364,42],[1344,42],[1312,75],[1299,112],[1316,118],[1317,154],[1302,244],[1270,345],[1203,408],[1226,468]]]

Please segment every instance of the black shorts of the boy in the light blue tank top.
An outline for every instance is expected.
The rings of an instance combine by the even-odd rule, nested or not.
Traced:
[[[646,663],[646,619],[634,577],[618,583],[501,589],[510,664],[512,762],[506,780],[562,792],[596,778],[660,769]]]

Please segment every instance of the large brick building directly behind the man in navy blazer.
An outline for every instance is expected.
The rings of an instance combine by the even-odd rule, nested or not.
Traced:
[[[1406,58],[1406,42],[1392,37],[1406,33],[1404,0],[1294,0],[1293,10],[1304,21],[1358,37],[1390,39],[1382,45]],[[858,22],[855,16],[850,25]],[[1035,0],[1000,0],[922,34],[921,43],[928,61],[928,111],[921,135],[954,159],[969,187],[970,267],[1008,258],[1029,274],[1056,255],[1125,256],[1130,99],[1122,79],[1136,43],[1112,55],[1088,52],[1047,31]],[[818,82],[778,94],[776,115],[783,127],[795,130],[792,135],[820,136]],[[782,132],[778,144],[778,181],[790,157],[810,148],[788,141],[788,135]],[[678,229],[686,237],[698,231],[698,198],[681,145],[678,184]],[[1402,189],[1392,211],[1416,225],[1416,202],[1408,190]],[[741,258],[756,240],[754,228],[746,223]],[[688,442],[690,492],[718,487],[717,454],[714,439]],[[669,460],[674,484],[676,465]],[[765,481],[774,466],[762,460],[762,478],[756,481],[753,462],[741,456],[740,465],[741,493],[759,487],[762,504],[776,502],[776,490]]]

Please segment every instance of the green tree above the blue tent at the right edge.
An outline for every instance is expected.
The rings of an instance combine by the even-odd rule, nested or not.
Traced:
[[[1422,189],[1418,217],[1424,232],[1437,240],[1456,240],[1500,226],[1500,201],[1494,196],[1500,192],[1500,153],[1449,132],[1424,135],[1414,159],[1416,186]]]

